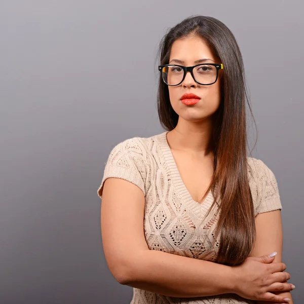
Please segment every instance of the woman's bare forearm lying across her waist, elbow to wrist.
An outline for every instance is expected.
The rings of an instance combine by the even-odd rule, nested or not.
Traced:
[[[232,267],[157,250],[146,250],[128,264],[122,284],[173,297],[234,293]]]

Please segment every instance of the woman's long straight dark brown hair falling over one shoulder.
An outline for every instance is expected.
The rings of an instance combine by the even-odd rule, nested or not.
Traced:
[[[249,164],[245,100],[251,115],[252,110],[246,89],[243,58],[235,36],[227,26],[216,18],[195,15],[176,24],[165,34],[158,51],[160,64],[169,63],[171,46],[175,40],[193,35],[201,37],[210,45],[224,67],[221,101],[215,113],[212,138],[214,174],[204,198],[211,189],[214,202],[209,212],[219,198],[221,201],[215,233],[218,236],[221,230],[216,262],[237,265],[249,256],[256,238],[254,207],[247,176]],[[171,131],[177,125],[178,115],[170,104],[168,86],[162,81],[161,75],[157,100],[161,125]],[[218,192],[215,192],[216,185]]]

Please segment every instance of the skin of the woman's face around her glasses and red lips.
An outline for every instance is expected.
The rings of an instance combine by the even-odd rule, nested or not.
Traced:
[[[175,61],[174,59],[181,60]],[[169,64],[192,66],[199,59],[208,59],[200,63],[221,63],[209,46],[200,37],[187,37],[174,41],[171,47]],[[222,70],[219,70],[217,81],[208,86],[199,85],[194,81],[190,72],[178,86],[168,86],[170,103],[174,111],[186,121],[199,122],[211,117],[220,104],[220,85]],[[182,103],[184,93],[193,93],[201,99],[193,105]]]

